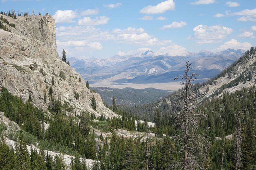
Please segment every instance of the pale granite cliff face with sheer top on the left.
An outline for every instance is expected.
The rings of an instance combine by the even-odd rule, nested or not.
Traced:
[[[52,86],[53,96],[61,102],[66,101],[76,113],[94,111],[96,116],[118,116],[105,107],[100,95],[87,89],[80,74],[58,56],[54,18],[49,15],[3,18],[15,24],[15,28],[6,24],[11,33],[0,29],[0,87],[6,87],[24,101],[30,96],[37,107],[47,110],[50,102],[48,90]],[[66,78],[59,76],[60,72]],[[79,94],[79,99],[74,93]],[[47,95],[46,102],[44,94]],[[93,96],[96,111],[90,106]]]

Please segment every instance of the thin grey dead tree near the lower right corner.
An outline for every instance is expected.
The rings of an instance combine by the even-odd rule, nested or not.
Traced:
[[[242,158],[242,125],[240,119],[240,112],[238,111],[236,114],[236,152],[235,152],[235,163],[236,170],[240,170],[241,168],[241,158]]]

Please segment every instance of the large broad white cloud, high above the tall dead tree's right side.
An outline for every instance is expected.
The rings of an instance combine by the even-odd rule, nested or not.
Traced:
[[[221,39],[225,39],[227,35],[232,33],[233,29],[221,25],[198,25],[194,27],[194,39],[198,44],[216,43]]]

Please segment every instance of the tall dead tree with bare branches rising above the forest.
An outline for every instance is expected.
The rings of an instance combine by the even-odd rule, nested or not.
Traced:
[[[210,147],[205,134],[198,134],[197,129],[199,122],[206,117],[198,106],[195,94],[192,92],[192,81],[199,76],[196,73],[191,73],[192,67],[189,61],[186,62],[185,74],[176,77],[182,78],[182,85],[184,86],[178,94],[178,101],[174,107],[174,114],[176,117],[176,124],[182,130],[181,135],[176,135],[175,140],[179,141],[182,147],[180,152],[184,158],[182,164],[183,170],[188,169],[205,169],[205,162],[207,161],[207,152]],[[180,109],[178,109],[180,108]]]

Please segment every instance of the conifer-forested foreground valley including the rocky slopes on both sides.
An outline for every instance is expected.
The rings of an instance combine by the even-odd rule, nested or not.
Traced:
[[[256,168],[254,47],[204,84],[187,61],[178,92],[106,107],[57,55],[53,18],[4,17],[15,29],[0,29],[0,169]]]

